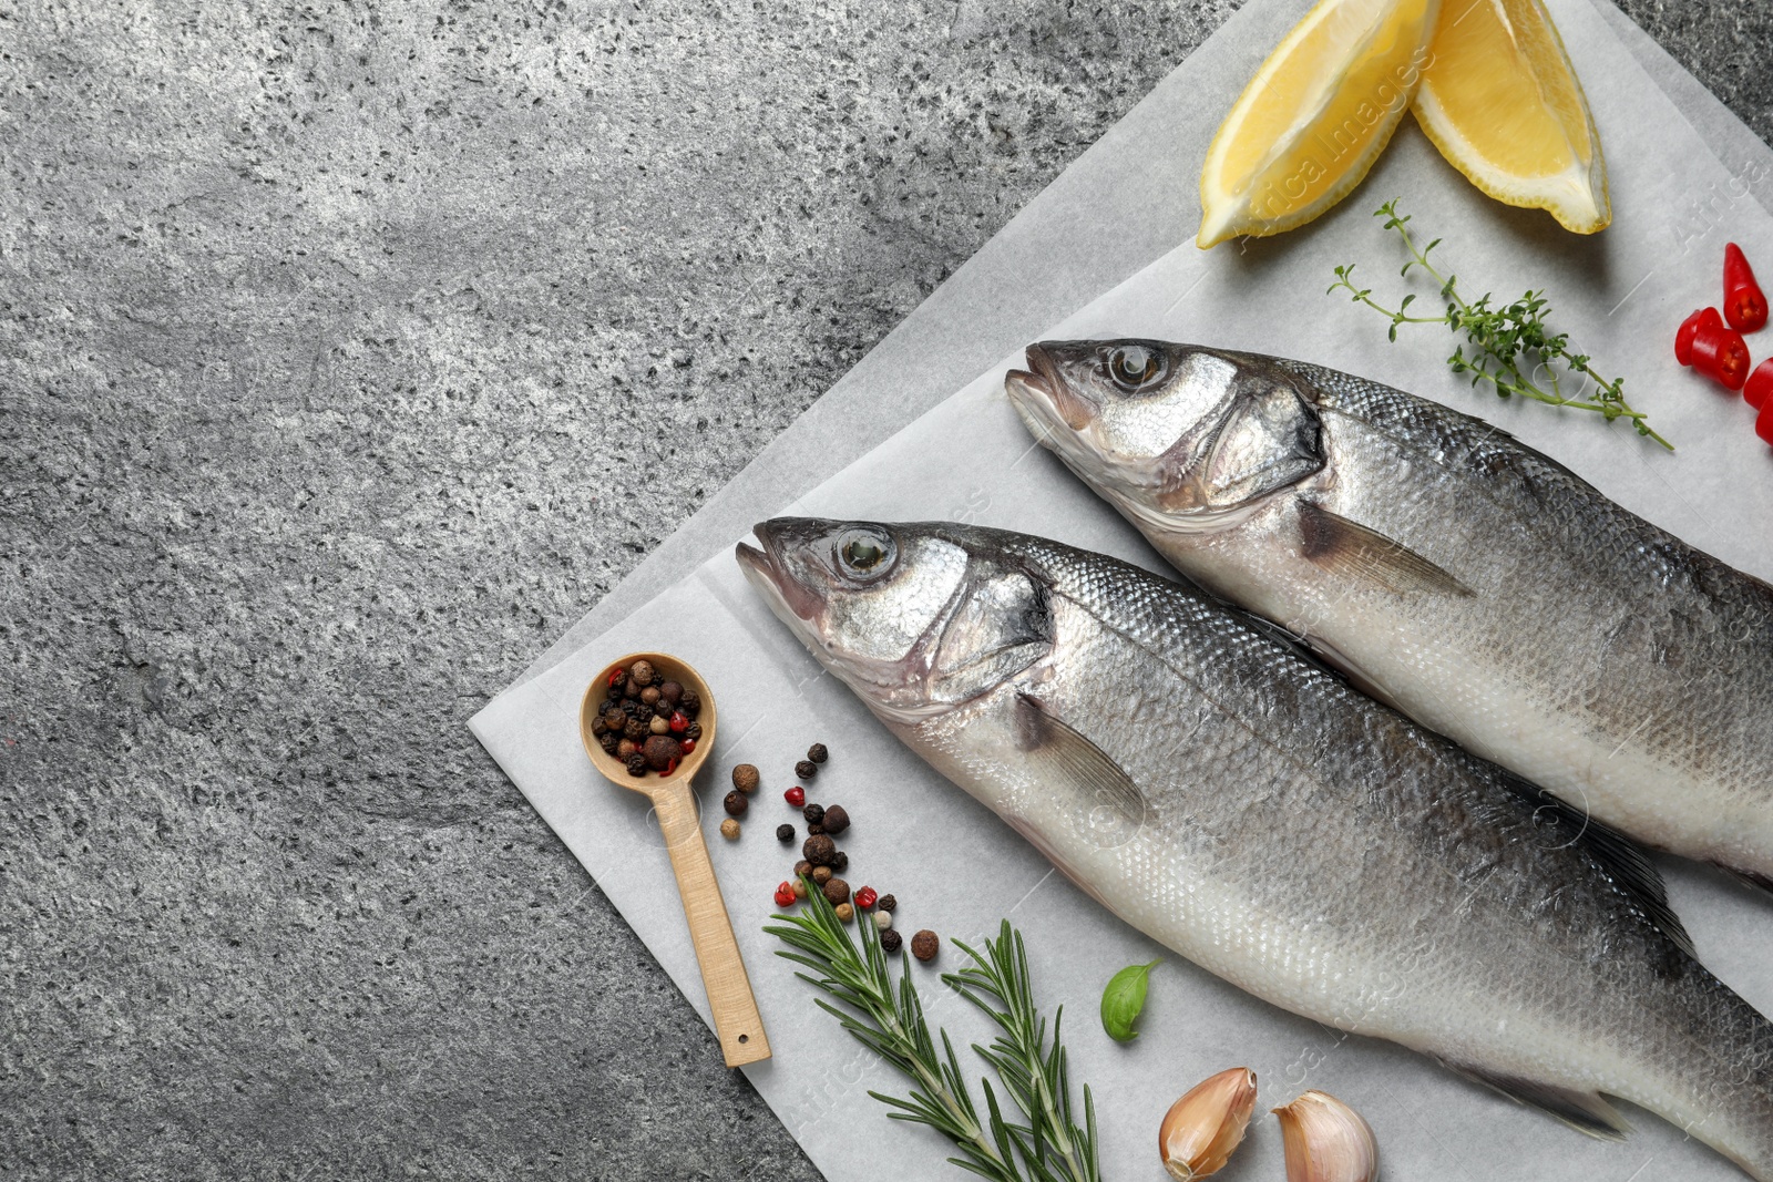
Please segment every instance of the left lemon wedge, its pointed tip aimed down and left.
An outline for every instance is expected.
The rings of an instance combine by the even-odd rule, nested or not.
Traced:
[[[1321,0],[1307,12],[1213,136],[1195,243],[1291,230],[1360,184],[1410,106],[1440,9]]]

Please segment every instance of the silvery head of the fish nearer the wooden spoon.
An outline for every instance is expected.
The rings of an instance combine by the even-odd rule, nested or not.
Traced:
[[[957,709],[1051,652],[1044,581],[966,526],[777,517],[745,578],[876,714]]]

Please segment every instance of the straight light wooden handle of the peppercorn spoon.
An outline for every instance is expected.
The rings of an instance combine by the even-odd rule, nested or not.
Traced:
[[[670,851],[670,868],[677,875],[683,895],[683,913],[690,920],[690,941],[702,966],[702,987],[707,991],[707,1008],[715,1014],[715,1037],[727,1067],[755,1063],[769,1058],[769,1038],[764,1019],[752,996],[752,982],[739,959],[739,941],[727,920],[727,904],[715,881],[715,865],[707,859],[702,826],[695,817],[695,801],[688,780],[661,787],[652,806],[660,833]]]

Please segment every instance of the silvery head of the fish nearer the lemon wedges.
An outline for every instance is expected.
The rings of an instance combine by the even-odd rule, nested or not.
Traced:
[[[1324,466],[1317,408],[1269,358],[1046,340],[1004,388],[1023,425],[1135,519],[1209,528]]]

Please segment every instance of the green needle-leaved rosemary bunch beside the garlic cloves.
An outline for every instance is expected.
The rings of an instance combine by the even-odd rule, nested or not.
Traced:
[[[807,888],[801,913],[777,914],[778,923],[764,932],[789,946],[777,955],[810,969],[796,976],[830,998],[816,998],[819,1008],[911,1081],[910,1097],[869,1092],[894,1109],[892,1120],[936,1129],[959,1152],[950,1163],[993,1182],[1101,1182],[1089,1088],[1083,1088],[1080,1129],[1073,1120],[1058,1015],[1048,1047],[1046,1021],[1034,1007],[1028,957],[1009,921],[996,941],[984,941],[984,953],[959,945],[973,964],[943,980],[998,1024],[998,1038],[989,1047],[975,1044],[973,1051],[998,1074],[1019,1122],[1005,1116],[989,1079],[979,1081],[986,1102],[980,1118],[945,1030],[938,1030],[941,1049],[936,1049],[910,964],[894,985],[874,925],[856,923],[858,948],[819,888],[810,881]]]

